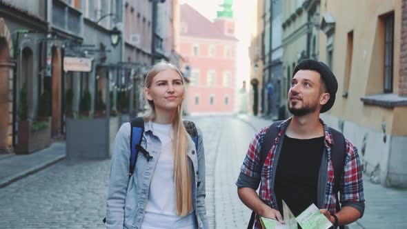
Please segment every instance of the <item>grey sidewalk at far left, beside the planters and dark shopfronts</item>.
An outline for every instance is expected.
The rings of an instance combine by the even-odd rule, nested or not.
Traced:
[[[0,157],[0,188],[46,168],[65,157],[65,141],[54,142],[49,148],[30,155],[3,155]]]

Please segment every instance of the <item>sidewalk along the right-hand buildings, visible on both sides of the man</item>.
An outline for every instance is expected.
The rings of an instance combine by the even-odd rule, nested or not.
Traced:
[[[257,131],[272,122],[250,115],[239,115],[238,118]],[[364,216],[348,228],[406,228],[407,188],[384,188],[370,182],[368,175],[364,174],[364,195]]]

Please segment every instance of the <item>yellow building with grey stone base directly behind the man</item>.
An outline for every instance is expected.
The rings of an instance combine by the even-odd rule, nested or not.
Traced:
[[[357,146],[366,178],[406,187],[407,72],[400,71],[406,0],[322,0],[320,6],[319,60],[339,85],[335,106],[322,119]]]

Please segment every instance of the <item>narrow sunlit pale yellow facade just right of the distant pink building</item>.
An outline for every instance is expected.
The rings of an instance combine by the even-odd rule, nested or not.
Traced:
[[[249,113],[253,115],[258,115],[260,112],[260,93],[262,91],[262,72],[263,72],[263,61],[261,59],[262,43],[261,43],[261,33],[264,28],[263,14],[264,14],[264,0],[257,0],[257,10],[255,11],[255,26],[253,26],[253,31],[251,34],[251,41],[249,47],[250,56],[250,94],[249,94]],[[255,99],[256,97],[256,99]],[[253,110],[254,103],[257,102]]]

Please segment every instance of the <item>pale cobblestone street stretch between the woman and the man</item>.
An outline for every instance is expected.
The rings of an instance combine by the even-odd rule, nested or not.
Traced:
[[[255,131],[232,117],[192,120],[203,131],[210,225],[219,229],[246,228],[251,211],[239,200],[235,181]]]

